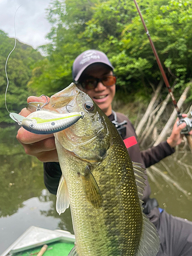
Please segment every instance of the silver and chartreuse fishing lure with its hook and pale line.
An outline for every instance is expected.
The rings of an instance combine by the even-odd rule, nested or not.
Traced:
[[[20,7],[20,6],[19,6]],[[15,15],[19,9],[17,8]],[[14,16],[14,30],[15,30],[15,16]],[[51,133],[57,133],[59,131],[67,129],[69,126],[76,123],[80,118],[84,117],[84,112],[73,112],[73,113],[67,113],[67,114],[59,114],[49,111],[44,111],[42,108],[48,104],[48,98],[47,102],[44,103],[42,106],[40,104],[37,107],[36,112],[31,113],[29,116],[24,117],[22,115],[9,112],[7,108],[7,90],[9,86],[9,79],[7,75],[7,62],[9,59],[9,56],[14,51],[16,47],[16,30],[15,30],[15,45],[12,49],[12,51],[9,53],[6,64],[5,64],[5,73],[7,78],[7,88],[5,92],[5,106],[9,113],[9,116],[17,122],[19,125],[22,125],[24,129],[27,131],[34,133],[34,134],[51,134]],[[41,95],[42,96],[42,95]],[[40,96],[40,97],[41,97]]]

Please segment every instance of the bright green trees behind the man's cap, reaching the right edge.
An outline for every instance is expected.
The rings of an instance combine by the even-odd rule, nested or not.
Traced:
[[[168,80],[179,95],[191,79],[192,4],[184,0],[138,1]],[[51,44],[37,62],[29,87],[49,96],[72,81],[72,63],[84,50],[110,58],[118,76],[117,93],[126,101],[149,100],[161,78],[140,17],[131,0],[53,0],[47,10]],[[164,89],[166,91],[166,89]],[[167,92],[166,92],[167,93]]]

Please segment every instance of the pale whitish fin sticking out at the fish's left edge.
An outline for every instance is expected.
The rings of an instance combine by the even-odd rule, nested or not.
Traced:
[[[57,188],[57,201],[56,201],[56,210],[58,214],[62,214],[67,208],[69,208],[69,194],[66,184],[65,177],[61,175],[59,186]]]

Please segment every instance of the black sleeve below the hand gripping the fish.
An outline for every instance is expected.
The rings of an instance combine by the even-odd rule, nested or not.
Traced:
[[[57,162],[44,163],[44,182],[51,194],[57,194],[57,187],[61,177],[60,165]]]

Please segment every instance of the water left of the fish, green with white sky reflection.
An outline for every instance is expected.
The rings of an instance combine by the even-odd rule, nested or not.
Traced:
[[[0,254],[32,225],[73,233],[70,210],[58,215],[42,163],[25,154],[16,132],[15,126],[0,129]]]

